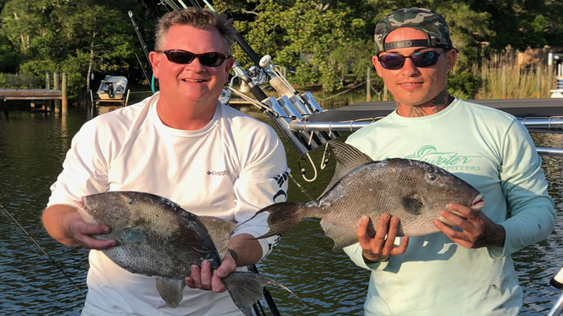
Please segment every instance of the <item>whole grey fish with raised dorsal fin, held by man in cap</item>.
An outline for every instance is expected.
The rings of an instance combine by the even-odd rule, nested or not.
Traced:
[[[400,220],[397,236],[422,236],[439,232],[432,223],[435,219],[452,226],[438,213],[447,204],[472,209],[482,209],[485,204],[472,185],[433,164],[402,158],[376,162],[352,145],[335,140],[329,145],[336,169],[322,195],[306,204],[283,202],[258,211],[255,216],[269,213],[270,226],[258,238],[280,235],[304,218],[321,218],[324,233],[337,250],[358,242],[356,228],[362,216],[371,219],[371,235],[375,233],[373,223],[388,213]]]

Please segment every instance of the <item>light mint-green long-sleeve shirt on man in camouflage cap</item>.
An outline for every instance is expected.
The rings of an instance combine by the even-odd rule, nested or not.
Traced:
[[[372,270],[366,315],[516,315],[522,290],[511,255],[555,226],[526,128],[510,114],[456,99],[428,117],[393,112],[346,143],[374,160],[417,159],[454,173],[483,193],[483,213],[506,230],[500,248],[466,249],[441,232],[410,237],[405,254],[369,265],[359,244],[346,247],[354,263]]]

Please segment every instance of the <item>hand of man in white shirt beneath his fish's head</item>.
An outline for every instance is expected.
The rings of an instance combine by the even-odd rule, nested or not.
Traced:
[[[94,225],[84,222],[77,209],[68,205],[49,206],[43,212],[45,230],[61,244],[81,246],[87,249],[106,249],[115,246],[113,239],[100,240],[91,235],[110,232],[106,225]]]

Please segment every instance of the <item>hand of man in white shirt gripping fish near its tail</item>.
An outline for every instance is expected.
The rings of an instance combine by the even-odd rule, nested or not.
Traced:
[[[224,292],[227,290],[227,287],[225,287],[222,278],[227,277],[227,275],[235,270],[236,264],[234,263],[234,259],[231,254],[227,252],[219,268],[213,272],[211,271],[211,264],[207,260],[201,263],[201,268],[199,265],[192,265],[190,276],[184,279],[184,283],[192,289]]]

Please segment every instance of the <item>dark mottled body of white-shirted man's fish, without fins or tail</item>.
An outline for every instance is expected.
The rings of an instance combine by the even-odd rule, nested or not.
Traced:
[[[196,216],[156,195],[112,193],[85,198],[94,222],[112,228],[98,238],[119,243],[103,250],[112,261],[132,273],[170,279],[184,279],[190,265],[205,259],[218,268],[215,244]]]

